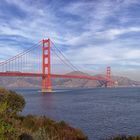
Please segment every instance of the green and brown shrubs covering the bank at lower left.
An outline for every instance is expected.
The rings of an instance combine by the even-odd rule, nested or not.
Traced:
[[[0,140],[87,140],[79,129],[45,116],[21,116],[25,100],[14,91],[0,88]]]

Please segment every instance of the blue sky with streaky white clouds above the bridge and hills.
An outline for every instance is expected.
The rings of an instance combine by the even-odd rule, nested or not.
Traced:
[[[140,0],[0,0],[0,61],[50,38],[81,70],[140,80]]]

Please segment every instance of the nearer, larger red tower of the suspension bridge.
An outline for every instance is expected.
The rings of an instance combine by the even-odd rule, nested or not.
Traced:
[[[50,39],[42,40],[42,92],[51,92],[51,49]]]

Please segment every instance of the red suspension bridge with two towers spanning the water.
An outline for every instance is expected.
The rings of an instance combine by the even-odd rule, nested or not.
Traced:
[[[87,79],[102,81],[106,87],[112,87],[114,81],[111,79],[111,67],[107,67],[105,76],[89,76],[89,75],[75,75],[75,74],[59,74],[52,71],[54,65],[52,61],[56,62],[56,57],[52,60],[52,52],[59,61],[65,64],[73,71],[79,69],[73,65],[58,49],[50,39],[43,39],[31,48],[17,54],[3,62],[0,62],[0,76],[3,77],[41,77],[42,78],[42,92],[52,91],[52,78],[71,78],[71,79]],[[59,67],[60,66],[60,67]],[[57,67],[54,69],[61,69],[62,65],[57,62]],[[64,69],[64,67],[63,67]]]

